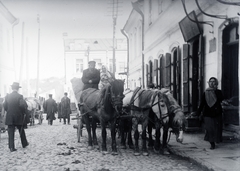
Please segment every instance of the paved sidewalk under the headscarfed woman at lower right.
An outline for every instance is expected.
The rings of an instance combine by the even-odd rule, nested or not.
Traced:
[[[239,171],[240,140],[231,133],[223,131],[223,142],[210,150],[210,144],[204,141],[203,132],[185,132],[183,143],[177,143],[175,135],[169,141],[170,152],[189,159],[204,170]]]

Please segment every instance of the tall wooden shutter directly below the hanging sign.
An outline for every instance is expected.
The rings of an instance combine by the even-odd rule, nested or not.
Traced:
[[[183,45],[183,112],[189,112],[189,45]]]

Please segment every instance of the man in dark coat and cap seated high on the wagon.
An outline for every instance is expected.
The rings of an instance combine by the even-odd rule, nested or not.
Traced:
[[[83,90],[88,88],[98,89],[100,81],[100,71],[95,68],[96,62],[89,61],[88,69],[83,70],[82,82],[84,83]]]

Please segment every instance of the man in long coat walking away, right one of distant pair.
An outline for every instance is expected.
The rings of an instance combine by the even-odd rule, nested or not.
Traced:
[[[70,99],[67,97],[68,93],[64,93],[64,97],[61,99],[61,115],[63,118],[63,124],[66,124],[66,119],[68,121],[68,125],[70,125],[70,114],[71,107],[70,107]]]

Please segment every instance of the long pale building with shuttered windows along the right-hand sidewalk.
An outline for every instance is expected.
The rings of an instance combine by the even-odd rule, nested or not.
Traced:
[[[239,129],[239,3],[224,2],[133,3],[135,12],[130,14],[124,29],[129,40],[137,42],[130,43],[129,58],[142,60],[143,64],[136,67],[130,60],[129,67],[135,69],[129,71],[129,78],[140,69],[143,87],[154,83],[157,88],[169,88],[188,115],[197,110],[208,79],[216,77],[224,98],[237,99],[235,106],[224,109],[224,123]],[[140,24],[131,22],[134,19]],[[141,24],[142,30],[137,31]],[[139,48],[141,37],[143,46]],[[143,56],[137,55],[141,53]]]

